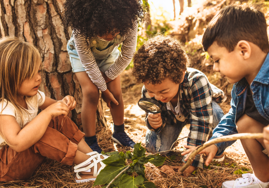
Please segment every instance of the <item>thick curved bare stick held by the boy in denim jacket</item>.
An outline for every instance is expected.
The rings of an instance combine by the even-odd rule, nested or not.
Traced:
[[[195,155],[197,155],[199,152],[201,152],[205,148],[211,146],[212,144],[216,144],[216,143],[219,143],[219,142],[225,142],[225,141],[233,141],[233,140],[237,140],[237,139],[253,139],[253,138],[254,139],[263,138],[263,134],[262,133],[240,133],[240,134],[221,136],[219,138],[214,138],[214,139],[212,139],[210,141],[207,141],[204,144],[202,144],[201,146],[198,146],[189,155],[189,158],[188,158],[186,164],[184,164],[184,166],[179,170],[179,172],[184,172],[187,169],[187,167],[189,167],[189,165],[194,160]]]

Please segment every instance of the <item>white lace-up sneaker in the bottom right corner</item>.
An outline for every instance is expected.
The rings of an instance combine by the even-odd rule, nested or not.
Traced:
[[[269,182],[264,183],[259,181],[254,174],[242,174],[242,178],[237,178],[232,181],[224,181],[222,188],[266,188]]]

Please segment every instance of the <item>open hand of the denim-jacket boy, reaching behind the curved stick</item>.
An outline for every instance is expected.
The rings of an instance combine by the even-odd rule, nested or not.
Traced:
[[[188,148],[188,150],[184,151],[181,153],[181,155],[186,155],[189,153],[189,155],[198,147],[195,147],[195,146],[186,146],[184,145],[185,148]],[[208,166],[211,161],[213,160],[213,158],[215,157],[216,153],[218,152],[218,147],[216,147],[215,144],[205,148],[204,150],[202,150],[200,153],[198,154],[206,154],[207,156],[207,160],[205,161],[205,164]],[[187,155],[187,157],[184,159],[184,161],[187,161],[188,158],[189,158],[189,155]]]

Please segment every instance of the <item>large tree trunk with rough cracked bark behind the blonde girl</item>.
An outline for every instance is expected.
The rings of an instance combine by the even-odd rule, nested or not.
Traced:
[[[44,70],[39,90],[55,100],[74,96],[77,106],[69,117],[81,129],[82,91],[66,48],[72,30],[64,31],[61,25],[64,1],[0,0],[0,36],[18,36],[39,48]],[[97,125],[107,126],[101,100]]]

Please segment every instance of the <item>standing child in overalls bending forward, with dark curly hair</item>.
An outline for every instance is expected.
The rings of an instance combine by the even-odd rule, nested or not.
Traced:
[[[112,139],[133,147],[135,142],[124,131],[120,73],[135,53],[138,22],[144,20],[143,6],[139,0],[67,0],[64,6],[63,24],[73,30],[67,49],[82,89],[85,141],[92,150],[102,151],[95,134],[101,90],[114,122]]]

